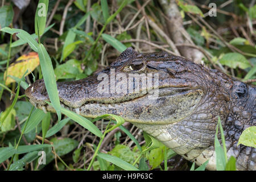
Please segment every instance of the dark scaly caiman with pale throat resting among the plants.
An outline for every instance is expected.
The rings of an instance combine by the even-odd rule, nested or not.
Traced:
[[[242,131],[256,123],[256,88],[216,69],[166,52],[127,48],[96,75],[57,82],[57,89],[62,107],[90,118],[119,115],[199,166],[209,159],[209,170],[216,170],[220,117],[228,158],[237,159],[238,170],[256,170],[255,148],[237,146]],[[43,80],[25,93],[39,109],[55,111],[44,102],[49,98]]]

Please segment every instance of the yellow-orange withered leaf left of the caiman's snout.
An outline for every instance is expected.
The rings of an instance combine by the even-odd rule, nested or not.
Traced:
[[[28,72],[25,76],[27,76],[32,71],[34,71],[34,69],[38,67],[38,65],[39,65],[39,57],[38,57],[38,53],[36,52],[30,52],[27,55],[20,56],[14,63],[12,63],[9,66],[7,71],[5,71],[5,76],[7,72],[5,85],[9,85],[11,82],[15,82],[15,80],[9,77],[9,75],[22,78],[22,76],[27,70]]]

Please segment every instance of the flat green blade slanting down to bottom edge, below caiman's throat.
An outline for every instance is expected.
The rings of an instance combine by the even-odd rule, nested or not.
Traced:
[[[139,171],[138,168],[134,167],[133,165],[125,162],[124,160],[117,158],[116,156],[108,155],[108,154],[98,154],[101,159],[107,160],[110,163],[115,164],[115,166],[121,167],[126,171]]]

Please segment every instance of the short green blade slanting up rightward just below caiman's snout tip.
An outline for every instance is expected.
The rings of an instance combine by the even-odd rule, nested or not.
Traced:
[[[27,127],[24,131],[24,134],[30,132],[33,130],[38,124],[42,121],[42,119],[45,117],[46,113],[40,109],[36,109],[31,114],[30,120],[28,120]],[[24,127],[24,126],[23,126]],[[23,130],[22,127],[22,130]]]

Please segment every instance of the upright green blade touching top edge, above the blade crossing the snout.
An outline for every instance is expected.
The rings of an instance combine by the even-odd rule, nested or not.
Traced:
[[[35,14],[35,33],[38,36],[43,35],[46,28],[46,17],[48,11],[49,0],[39,0]],[[38,26],[37,26],[38,25]]]

